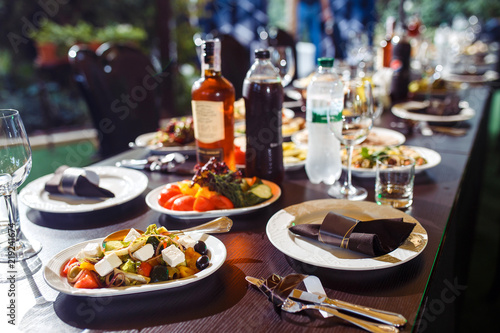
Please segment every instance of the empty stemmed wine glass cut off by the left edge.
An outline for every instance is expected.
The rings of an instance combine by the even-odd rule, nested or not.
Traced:
[[[26,180],[31,170],[31,147],[19,111],[0,110],[0,194],[2,209],[8,221],[0,228],[7,234],[7,241],[0,244],[0,262],[15,264],[40,252],[38,242],[29,242],[21,233],[17,188]]]

